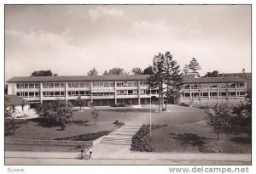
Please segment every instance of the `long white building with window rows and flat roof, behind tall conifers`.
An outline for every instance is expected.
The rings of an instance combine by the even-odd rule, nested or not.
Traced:
[[[30,103],[86,99],[87,105],[149,104],[158,98],[158,90],[148,89],[148,75],[132,76],[21,76],[8,81],[8,94],[25,98]],[[218,99],[242,99],[246,82],[238,76],[193,78],[183,76],[183,89],[178,102]]]

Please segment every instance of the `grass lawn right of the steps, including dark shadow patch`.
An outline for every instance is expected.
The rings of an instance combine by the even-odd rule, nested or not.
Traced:
[[[245,134],[212,132],[205,122],[193,125],[160,127],[152,131],[152,138],[145,138],[156,152],[173,153],[251,153],[251,138]]]

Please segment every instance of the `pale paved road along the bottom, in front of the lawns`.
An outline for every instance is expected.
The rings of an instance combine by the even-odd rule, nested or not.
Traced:
[[[125,153],[90,160],[78,160],[77,154],[7,151],[5,165],[251,165],[251,154]]]

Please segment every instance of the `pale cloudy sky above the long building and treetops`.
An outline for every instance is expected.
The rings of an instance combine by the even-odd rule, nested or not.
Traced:
[[[4,27],[6,81],[34,70],[131,72],[166,51],[181,69],[195,57],[201,76],[251,72],[249,5],[6,5]]]

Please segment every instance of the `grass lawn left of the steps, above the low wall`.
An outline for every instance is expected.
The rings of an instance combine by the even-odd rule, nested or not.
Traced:
[[[117,127],[113,125],[115,119],[101,119],[102,115],[113,115],[114,113],[104,113],[99,116],[95,125],[92,120],[92,109],[84,109],[83,112],[74,112],[74,122],[68,123],[66,129],[61,131],[60,126],[41,126],[38,121],[29,120],[23,123],[20,128],[15,131],[15,136],[6,136],[9,139],[55,139],[77,136],[85,133],[94,133],[101,131],[113,132]]]

